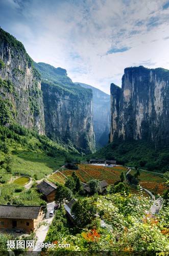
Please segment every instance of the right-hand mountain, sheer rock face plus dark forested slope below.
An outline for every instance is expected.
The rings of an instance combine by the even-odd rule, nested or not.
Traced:
[[[167,172],[169,168],[169,71],[126,68],[122,89],[111,84],[110,142],[88,158]]]

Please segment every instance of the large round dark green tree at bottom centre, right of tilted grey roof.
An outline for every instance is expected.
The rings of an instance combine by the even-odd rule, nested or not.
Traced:
[[[87,199],[79,199],[71,207],[71,214],[77,226],[83,228],[95,220],[96,208]]]

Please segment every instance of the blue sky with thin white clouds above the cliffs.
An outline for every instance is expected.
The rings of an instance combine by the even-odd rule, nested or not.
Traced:
[[[127,67],[169,69],[168,0],[0,0],[0,26],[34,61],[108,94]]]

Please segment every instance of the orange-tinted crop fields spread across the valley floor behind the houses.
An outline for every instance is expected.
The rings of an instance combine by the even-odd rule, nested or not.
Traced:
[[[80,178],[81,182],[88,183],[90,179],[98,179],[100,181],[105,180],[109,185],[114,184],[115,181],[120,180],[120,174],[127,171],[124,166],[99,166],[91,164],[79,164],[79,169],[76,170],[76,174]],[[50,179],[54,182],[64,185],[66,177],[71,176],[74,170],[61,170],[60,173],[55,173],[50,176]],[[131,170],[132,175],[136,173],[135,170]],[[64,177],[66,176],[66,177]],[[154,194],[162,195],[163,191],[167,188],[162,175],[154,174],[150,172],[143,172],[140,170],[140,176],[138,177],[140,186],[147,188]],[[131,186],[131,191],[137,194],[138,191],[134,186]],[[145,196],[147,196],[146,193]]]

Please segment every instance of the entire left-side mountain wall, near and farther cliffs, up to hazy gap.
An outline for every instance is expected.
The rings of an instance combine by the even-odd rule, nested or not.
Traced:
[[[21,42],[3,29],[0,109],[0,125],[19,124],[70,150],[95,151],[92,91],[74,84],[62,68],[34,63]]]

